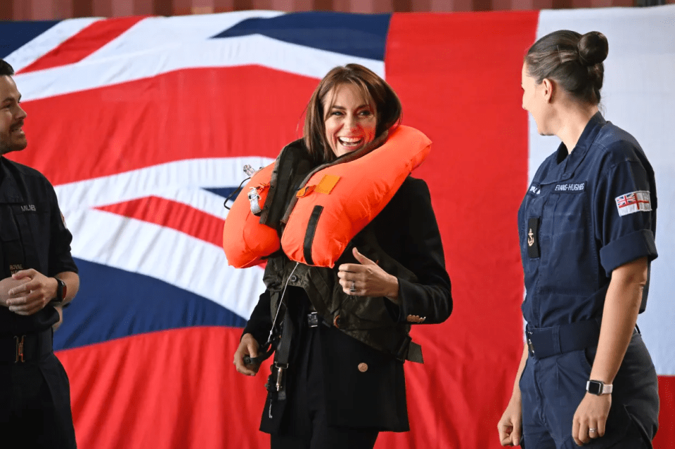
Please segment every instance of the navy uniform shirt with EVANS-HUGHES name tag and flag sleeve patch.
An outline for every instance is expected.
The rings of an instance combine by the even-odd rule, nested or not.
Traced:
[[[570,155],[561,144],[536,171],[518,233],[528,325],[602,315],[612,271],[657,257],[654,171],[635,138],[594,115]]]

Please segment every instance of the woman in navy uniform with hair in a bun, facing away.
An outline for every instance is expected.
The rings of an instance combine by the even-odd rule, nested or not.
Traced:
[[[562,143],[518,212],[527,322],[502,445],[651,448],[659,399],[636,329],[657,257],[654,171],[598,112],[608,41],[561,30],[522,67],[522,108]],[[521,441],[522,437],[522,441]]]

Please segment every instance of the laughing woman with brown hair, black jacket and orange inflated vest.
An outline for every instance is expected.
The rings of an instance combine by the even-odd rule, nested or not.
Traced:
[[[340,196],[349,212],[368,202],[384,171],[401,183],[398,189],[380,186],[391,195],[376,201],[381,212],[361,223],[365,228],[338,251],[334,266],[313,266],[311,257],[302,263],[284,245],[267,259],[267,288],[234,364],[238,372],[256,375],[259,361],[276,351],[260,426],[271,434],[272,448],[366,449],[380,431],[409,430],[403,363],[422,362],[420,346],[409,337],[411,323],[442,323],[452,299],[426,183],[409,176],[410,164],[390,163],[409,153],[392,150],[394,142],[414,149],[423,136],[397,126],[400,119],[399,98],[383,79],[361,65],[335,67],[309,100],[304,138],[286,145],[274,164],[256,223],[283,234],[282,243],[294,232],[293,213],[285,211],[305,195],[307,188],[298,188],[314,174],[328,179],[314,186],[316,195],[349,186]],[[384,158],[371,157],[382,152]],[[359,175],[349,181],[346,175],[323,176],[324,169]],[[329,210],[311,207],[309,225],[300,220],[307,233],[296,247],[311,253],[307,242],[321,233],[319,216]],[[347,218],[333,228],[359,228],[357,222]]]

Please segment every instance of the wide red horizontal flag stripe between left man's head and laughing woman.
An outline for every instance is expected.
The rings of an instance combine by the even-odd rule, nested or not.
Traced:
[[[27,101],[28,148],[9,157],[54,185],[186,158],[276,157],[302,131],[317,83],[266,67],[210,67]]]

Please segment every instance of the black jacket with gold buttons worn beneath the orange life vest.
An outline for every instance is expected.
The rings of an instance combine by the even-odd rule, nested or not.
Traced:
[[[416,317],[420,317],[423,324],[446,320],[452,311],[451,285],[426,183],[406,178],[368,228],[377,236],[380,247],[418,278],[415,283],[399,279],[399,306],[382,299],[392,318],[399,323],[416,323]],[[289,289],[287,294],[291,302],[302,301],[304,291]],[[269,301],[269,292],[264,292],[244,330],[260,344],[266,341],[271,327]],[[321,345],[330,425],[409,430],[401,361],[335,327],[321,326]],[[366,372],[359,371],[360,363],[368,365]]]

